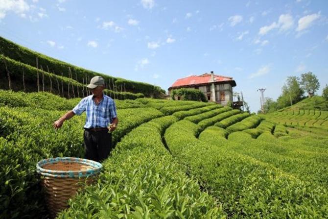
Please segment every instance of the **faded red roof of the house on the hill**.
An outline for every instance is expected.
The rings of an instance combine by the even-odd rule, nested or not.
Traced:
[[[235,82],[232,77],[226,77],[222,75],[216,75],[214,74],[214,82],[224,82],[224,81],[229,81],[232,82],[235,86]],[[192,85],[199,85],[199,84],[208,84],[211,83],[211,74],[209,73],[204,73],[202,75],[191,75],[185,78],[180,78],[176,80],[170,88],[173,87],[183,87],[183,86],[192,86]]]

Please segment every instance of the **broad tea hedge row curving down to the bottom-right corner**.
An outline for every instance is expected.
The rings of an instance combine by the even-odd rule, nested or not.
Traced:
[[[327,189],[253,158],[252,153],[262,144],[257,143],[258,140],[253,140],[247,133],[234,132],[231,135],[239,135],[236,137],[242,143],[226,141],[227,144],[216,145],[213,139],[209,144],[196,139],[198,130],[199,127],[192,122],[176,122],[166,130],[165,141],[177,161],[187,168],[188,174],[199,180],[201,187],[222,203],[223,211],[230,218],[327,216]],[[271,133],[269,135],[276,139]],[[252,149],[245,144],[249,141],[255,144]],[[234,147],[240,151],[249,150],[249,153],[241,154],[234,151]],[[272,155],[266,157],[274,158]],[[284,165],[282,162],[281,166]],[[298,163],[295,162],[294,166]]]

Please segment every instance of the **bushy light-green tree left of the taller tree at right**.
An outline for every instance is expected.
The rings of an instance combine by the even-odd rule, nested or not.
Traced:
[[[282,86],[282,94],[278,97],[279,108],[290,106],[302,100],[304,90],[301,88],[300,79],[296,76],[287,77],[285,85]]]

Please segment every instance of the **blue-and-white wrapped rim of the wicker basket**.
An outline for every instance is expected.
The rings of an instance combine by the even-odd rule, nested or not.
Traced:
[[[48,170],[44,169],[43,166],[47,164],[55,164],[55,163],[79,163],[79,164],[84,164],[87,166],[92,167],[93,169],[90,170]],[[45,176],[52,176],[52,177],[61,177],[61,178],[66,178],[66,177],[72,177],[74,178],[75,176],[79,177],[86,177],[86,176],[91,176],[94,174],[97,174],[100,172],[102,169],[102,164],[99,162],[93,161],[93,160],[88,160],[84,158],[78,158],[78,157],[55,157],[55,158],[47,158],[39,161],[36,165],[37,172],[39,172],[42,175]]]

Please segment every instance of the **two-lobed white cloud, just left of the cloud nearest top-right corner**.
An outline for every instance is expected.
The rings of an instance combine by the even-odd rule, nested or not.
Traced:
[[[272,24],[270,24],[269,26],[262,26],[261,28],[259,28],[259,35],[265,35],[267,34],[269,31],[275,29],[275,28],[279,28],[279,31],[283,32],[283,31],[287,31],[288,29],[290,29],[294,24],[294,20],[293,17],[289,14],[282,14],[279,16],[279,20],[278,23],[273,22]]]

